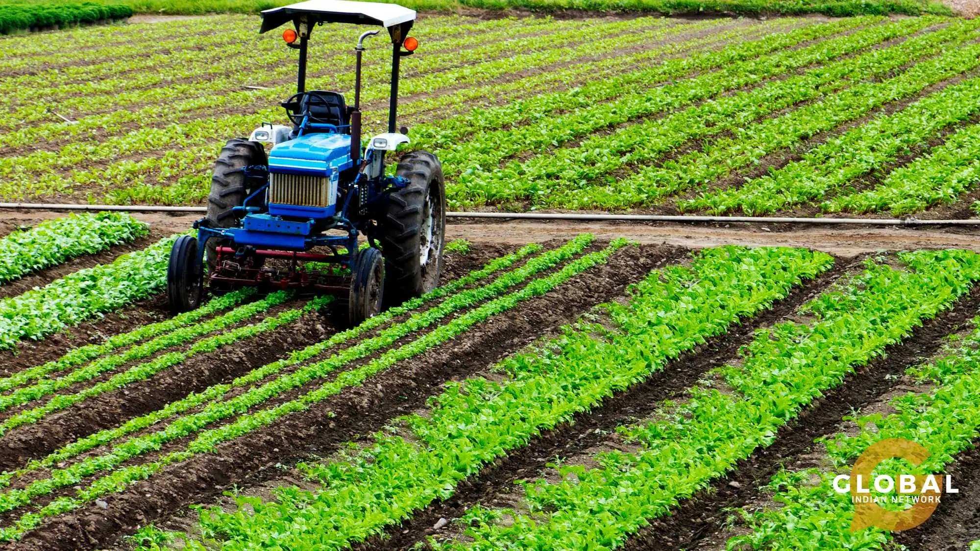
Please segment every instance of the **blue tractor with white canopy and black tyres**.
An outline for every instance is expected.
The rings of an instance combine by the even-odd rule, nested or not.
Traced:
[[[246,285],[334,293],[342,321],[354,326],[434,288],[442,265],[446,193],[442,166],[425,151],[401,157],[393,175],[385,156],[409,142],[396,130],[399,62],[418,41],[416,12],[395,4],[310,0],[262,12],[267,32],[281,25],[299,50],[297,93],[282,102],[291,125],[265,124],[229,140],[215,163],[208,210],[174,243],[168,300],[174,312],[197,308],[209,290]],[[354,104],[335,91],[307,90],[307,46],[314,27],[379,25],[391,38],[388,131],[362,143],[361,65],[355,47]],[[267,151],[267,146],[270,149]],[[359,238],[364,235],[365,240]]]

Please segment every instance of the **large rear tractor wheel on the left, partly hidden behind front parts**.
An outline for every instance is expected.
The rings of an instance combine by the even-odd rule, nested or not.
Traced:
[[[258,189],[257,182],[248,181],[245,177],[244,169],[268,164],[266,149],[259,142],[235,138],[224,144],[218,160],[215,161],[211,193],[208,194],[208,213],[205,219],[209,227],[232,227],[238,224],[242,215],[232,209],[242,206],[245,198]],[[208,240],[208,271],[211,274],[215,273],[218,265],[219,244],[216,239]]]

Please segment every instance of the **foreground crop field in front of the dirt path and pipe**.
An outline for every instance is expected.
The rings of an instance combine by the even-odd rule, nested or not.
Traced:
[[[438,289],[339,330],[291,291],[167,314],[174,236],[129,217],[5,227],[0,250],[121,227],[0,299],[0,549],[980,539],[978,253],[457,241]],[[73,307],[25,307],[45,300]],[[827,480],[896,436],[961,493],[856,535]]]

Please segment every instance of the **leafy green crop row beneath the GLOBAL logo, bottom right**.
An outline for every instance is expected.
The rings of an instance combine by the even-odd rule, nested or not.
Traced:
[[[858,417],[854,420],[860,428],[858,434],[840,432],[821,438],[826,445],[824,459],[834,470],[784,470],[773,476],[769,489],[782,507],[745,512],[752,531],[732,537],[729,547],[882,548],[892,534],[875,526],[852,531],[855,507],[851,494],[835,492],[833,478],[868,446],[887,438],[904,438],[926,448],[929,457],[915,467],[914,474],[948,471],[956,454],[971,448],[980,435],[980,403],[976,399],[980,393],[978,344],[980,330],[974,329],[936,361],[909,369],[907,375],[935,387],[923,386],[918,392],[892,400],[890,405],[898,413]],[[884,474],[889,467],[894,465],[883,463],[875,472]],[[814,479],[818,481],[814,483]],[[869,495],[887,499],[896,494]]]

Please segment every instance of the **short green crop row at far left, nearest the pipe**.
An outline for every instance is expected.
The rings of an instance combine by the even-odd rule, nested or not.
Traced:
[[[72,215],[0,239],[0,283],[145,237],[149,226],[124,213]]]

